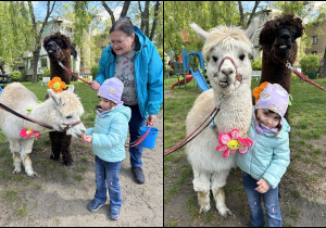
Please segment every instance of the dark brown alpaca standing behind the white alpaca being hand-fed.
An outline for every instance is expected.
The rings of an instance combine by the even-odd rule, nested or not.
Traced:
[[[76,50],[71,46],[71,39],[58,31],[45,38],[43,48],[50,58],[50,78],[60,77],[62,81],[70,85],[71,75],[58,64],[58,61],[71,69],[71,55],[75,59],[77,56]],[[64,164],[72,165],[73,157],[70,152],[72,136],[67,136],[65,131],[52,131],[49,134],[52,150],[50,159],[58,161],[61,152]]]

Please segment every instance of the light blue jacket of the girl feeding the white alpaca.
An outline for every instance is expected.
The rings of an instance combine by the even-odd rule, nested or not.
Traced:
[[[130,107],[124,105],[97,115],[93,127],[86,130],[86,136],[92,136],[91,149],[98,157],[105,162],[122,162],[126,157],[125,142],[130,116]]]

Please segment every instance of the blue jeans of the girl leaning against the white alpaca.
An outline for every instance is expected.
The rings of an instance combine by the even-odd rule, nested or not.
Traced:
[[[250,208],[250,226],[263,227],[265,225],[261,204],[261,195],[263,195],[268,226],[281,227],[281,216],[278,204],[278,186],[275,189],[269,188],[265,193],[260,193],[254,190],[258,187],[258,180],[253,179],[244,172],[242,172],[242,180]]]

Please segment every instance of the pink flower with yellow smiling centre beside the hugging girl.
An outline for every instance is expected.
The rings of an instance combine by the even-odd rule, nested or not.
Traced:
[[[239,137],[239,130],[234,129],[230,132],[222,132],[218,136],[218,142],[221,145],[216,147],[216,150],[223,153],[223,157],[227,157],[229,154],[235,154],[237,151],[243,154],[248,151],[249,147],[252,147],[251,139],[242,139]]]

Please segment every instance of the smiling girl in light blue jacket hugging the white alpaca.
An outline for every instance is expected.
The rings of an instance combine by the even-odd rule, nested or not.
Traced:
[[[278,84],[268,84],[254,106],[248,137],[252,148],[237,155],[250,208],[250,226],[265,224],[261,195],[264,198],[269,227],[281,227],[278,182],[290,163],[290,126],[284,118],[289,94]]]

